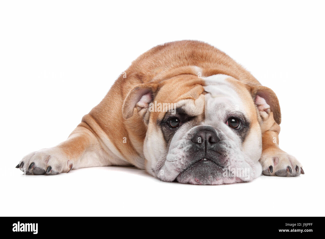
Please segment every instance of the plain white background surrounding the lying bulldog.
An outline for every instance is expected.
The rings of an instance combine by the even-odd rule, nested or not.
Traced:
[[[1,216],[324,216],[321,1],[1,1]],[[132,167],[24,176],[137,56],[169,41],[216,46],[278,95],[280,147],[305,175],[166,183]]]

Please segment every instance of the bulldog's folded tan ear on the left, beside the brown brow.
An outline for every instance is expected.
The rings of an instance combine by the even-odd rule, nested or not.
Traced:
[[[147,112],[149,104],[152,102],[157,88],[158,84],[145,83],[137,85],[130,90],[123,103],[123,118],[130,118],[133,115],[134,108],[136,108],[139,116],[143,117],[145,122],[148,121],[149,114]]]

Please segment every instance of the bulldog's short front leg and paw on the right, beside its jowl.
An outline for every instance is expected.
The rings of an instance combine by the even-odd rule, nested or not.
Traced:
[[[259,160],[263,175],[292,177],[304,174],[300,162],[279,148],[280,126],[274,121],[273,116],[271,115],[263,125],[266,131],[262,133],[262,156]]]

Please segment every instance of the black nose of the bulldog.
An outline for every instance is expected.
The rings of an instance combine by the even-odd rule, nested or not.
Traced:
[[[220,139],[214,130],[201,129],[192,137],[192,142],[202,150],[211,150]]]

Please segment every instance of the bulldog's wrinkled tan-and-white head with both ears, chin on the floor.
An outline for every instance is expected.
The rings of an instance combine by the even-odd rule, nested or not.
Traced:
[[[228,75],[183,74],[136,86],[123,104],[147,125],[146,169],[163,181],[224,184],[250,181],[262,168],[263,124],[280,123],[272,90]]]

